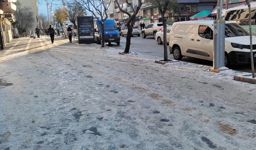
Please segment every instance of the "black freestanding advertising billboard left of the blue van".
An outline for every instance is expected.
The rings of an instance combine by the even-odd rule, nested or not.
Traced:
[[[78,16],[77,26],[79,44],[95,43],[93,16]]]

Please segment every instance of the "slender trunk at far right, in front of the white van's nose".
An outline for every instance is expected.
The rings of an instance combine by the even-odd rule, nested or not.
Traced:
[[[250,25],[250,50],[251,50],[251,63],[252,63],[252,78],[255,78],[254,74],[254,61],[253,61],[253,52],[252,52],[252,19],[251,19],[251,4],[249,0],[246,0],[247,6],[249,8],[249,25]]]

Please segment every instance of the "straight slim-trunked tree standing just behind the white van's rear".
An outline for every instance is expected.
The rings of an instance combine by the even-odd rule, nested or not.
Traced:
[[[146,0],[146,2],[150,3],[153,6],[158,6],[158,9],[162,16],[163,28],[164,28],[164,61],[168,61],[168,51],[167,51],[167,22],[164,14],[167,10],[172,10],[174,13],[179,12],[179,5],[177,0]]]

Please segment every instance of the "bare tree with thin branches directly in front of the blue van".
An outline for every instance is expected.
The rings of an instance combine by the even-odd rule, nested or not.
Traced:
[[[104,47],[104,44],[105,44],[104,21],[108,18],[107,10],[112,0],[110,0],[109,4],[106,4],[105,0],[74,0],[74,1],[76,2],[76,4],[74,5],[84,8],[88,12],[91,12],[95,18],[97,18],[102,30],[101,47]]]

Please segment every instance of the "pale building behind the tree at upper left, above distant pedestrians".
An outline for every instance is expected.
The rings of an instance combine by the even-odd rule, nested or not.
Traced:
[[[33,22],[32,22],[32,27],[27,28],[26,32],[30,32],[36,29],[36,26],[38,26],[38,5],[37,5],[37,0],[19,0],[20,7],[23,8],[25,6],[30,7],[31,11],[33,12]]]

